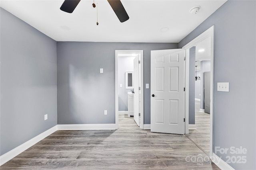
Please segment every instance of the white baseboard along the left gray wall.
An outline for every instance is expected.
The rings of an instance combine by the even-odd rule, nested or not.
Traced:
[[[58,130],[57,125],[0,156],[0,166]]]

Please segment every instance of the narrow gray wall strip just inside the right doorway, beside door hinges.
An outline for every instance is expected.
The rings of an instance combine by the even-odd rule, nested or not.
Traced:
[[[195,124],[195,62],[196,62],[196,47],[189,50],[189,124]]]

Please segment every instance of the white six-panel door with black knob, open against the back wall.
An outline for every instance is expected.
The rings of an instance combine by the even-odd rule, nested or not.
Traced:
[[[184,49],[151,51],[151,131],[185,133]]]

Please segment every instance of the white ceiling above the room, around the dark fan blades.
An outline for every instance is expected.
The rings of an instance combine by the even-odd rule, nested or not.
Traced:
[[[1,0],[0,6],[56,41],[178,43],[226,0],[121,0],[130,19],[121,23],[107,0],[81,0],[72,14],[64,0]],[[201,6],[198,14],[190,14]],[[168,27],[168,31],[161,29]]]

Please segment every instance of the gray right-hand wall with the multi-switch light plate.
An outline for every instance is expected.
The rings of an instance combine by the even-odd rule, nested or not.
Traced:
[[[241,10],[243,9],[243,10]],[[237,170],[256,169],[256,1],[227,1],[179,43],[183,47],[215,25],[214,39],[214,148],[247,149],[245,164]],[[230,82],[230,92],[218,92],[217,82]],[[216,149],[214,149],[216,152]],[[236,154],[221,154],[226,156]]]

